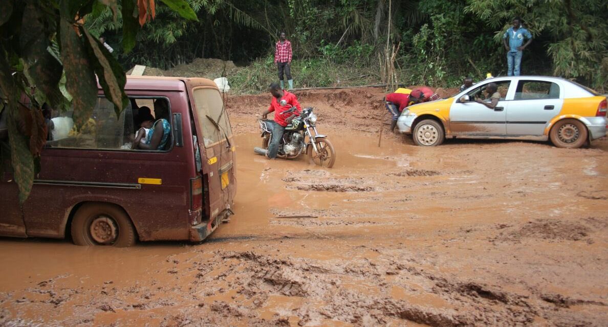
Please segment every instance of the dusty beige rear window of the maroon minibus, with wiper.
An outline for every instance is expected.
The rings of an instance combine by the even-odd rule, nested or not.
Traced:
[[[202,126],[205,147],[211,147],[231,137],[232,129],[230,129],[228,113],[224,109],[224,101],[219,95],[219,91],[217,89],[195,89],[193,98],[199,126]]]

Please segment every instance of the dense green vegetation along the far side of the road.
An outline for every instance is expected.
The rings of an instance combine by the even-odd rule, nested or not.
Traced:
[[[277,33],[285,30],[294,46],[294,75],[300,86],[335,85],[339,79],[361,75],[365,82],[379,81],[379,55],[385,58],[390,15],[389,41],[399,44],[399,82],[457,86],[467,75],[506,74],[500,38],[513,17],[521,16],[534,35],[523,56],[523,73],[575,78],[607,89],[605,0],[187,2],[198,22],[185,21],[159,5],[156,19],[144,27],[134,51],[118,54],[125,68],[139,63],[168,69],[202,57],[254,62],[235,81],[244,89],[262,90],[274,73]],[[120,15],[114,21],[106,10],[87,24],[108,36],[111,44],[122,42]]]

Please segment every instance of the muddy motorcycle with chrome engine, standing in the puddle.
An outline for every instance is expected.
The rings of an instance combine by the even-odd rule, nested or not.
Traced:
[[[289,115],[295,110],[297,110],[296,107],[291,107],[283,112],[283,115]],[[254,151],[260,155],[266,155],[268,144],[272,140],[273,123],[272,120],[262,119],[258,119],[258,123],[260,123],[262,146],[255,147]],[[336,162],[336,151],[330,140],[317,132],[316,123],[317,115],[313,112],[313,108],[303,109],[300,116],[295,116],[285,127],[283,139],[278,146],[277,157],[293,159],[306,153],[311,163],[326,168],[333,167]],[[308,137],[308,141],[306,141],[306,137]]]

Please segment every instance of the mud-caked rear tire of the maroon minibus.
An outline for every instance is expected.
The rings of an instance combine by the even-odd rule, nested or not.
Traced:
[[[97,221],[101,228],[111,228],[110,234],[117,234],[108,243],[100,243],[91,235],[91,224]],[[72,220],[72,240],[76,245],[109,245],[126,248],[135,245],[136,235],[131,219],[119,206],[109,203],[85,203]],[[97,237],[99,238],[99,237]]]

